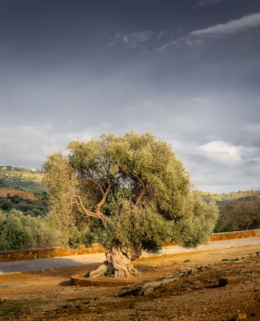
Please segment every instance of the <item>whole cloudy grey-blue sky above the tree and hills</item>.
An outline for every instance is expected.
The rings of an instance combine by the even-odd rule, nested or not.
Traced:
[[[200,190],[260,188],[259,0],[0,0],[0,165],[131,130]]]

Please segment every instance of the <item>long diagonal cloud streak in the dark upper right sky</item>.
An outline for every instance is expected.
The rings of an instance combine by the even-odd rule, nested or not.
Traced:
[[[230,20],[226,23],[220,23],[206,29],[195,30],[189,33],[189,35],[194,37],[222,36],[254,28],[258,25],[260,25],[260,12],[244,16],[240,19]]]

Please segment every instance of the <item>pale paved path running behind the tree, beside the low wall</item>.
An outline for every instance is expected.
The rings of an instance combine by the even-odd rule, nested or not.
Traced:
[[[210,242],[208,245],[200,245],[199,247],[197,247],[197,249],[194,249],[194,248],[185,249],[178,245],[171,245],[171,246],[164,247],[160,254],[175,254],[175,253],[185,253],[185,252],[193,252],[193,251],[206,251],[211,249],[228,248],[228,247],[234,247],[234,246],[253,245],[253,244],[258,244],[259,251],[260,251],[260,237],[250,237],[250,238],[244,238],[244,239]],[[152,254],[143,252],[141,257],[147,257],[147,256],[152,256]],[[1,262],[0,275],[5,273],[13,273],[13,272],[21,272],[21,271],[35,271],[35,270],[45,270],[49,268],[82,266],[85,264],[94,264],[94,263],[100,263],[103,261],[105,261],[105,253],[72,255],[72,256],[49,258],[49,259]]]

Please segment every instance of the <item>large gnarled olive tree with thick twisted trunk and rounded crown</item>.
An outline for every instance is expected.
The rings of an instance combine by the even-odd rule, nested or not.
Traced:
[[[90,277],[139,275],[132,262],[142,249],[156,253],[170,238],[184,246],[208,240],[218,208],[199,199],[169,143],[131,131],[72,141],[67,150],[43,165],[48,218],[63,236],[87,233],[91,220],[100,228],[106,261]]]

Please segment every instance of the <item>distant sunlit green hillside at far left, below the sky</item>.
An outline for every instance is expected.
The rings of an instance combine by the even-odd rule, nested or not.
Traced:
[[[42,193],[47,191],[46,187],[41,184],[42,176],[40,170],[0,166],[0,189],[11,187],[32,193]]]

